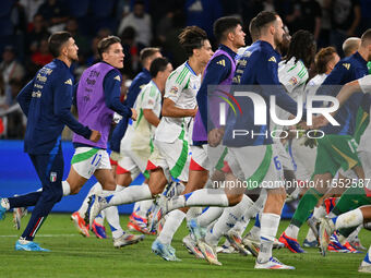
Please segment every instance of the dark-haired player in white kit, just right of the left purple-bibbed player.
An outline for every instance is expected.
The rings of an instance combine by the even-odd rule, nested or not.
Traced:
[[[145,177],[144,184],[148,184],[149,173],[145,169],[154,147],[153,137],[159,123],[165,83],[170,72],[172,72],[172,65],[165,58],[157,58],[151,64],[149,73],[153,78],[142,88],[134,105],[135,110],[139,111],[139,121],[129,125],[121,141],[119,173],[116,178],[119,186],[129,186],[141,172]],[[151,207],[152,200],[147,202]],[[128,227],[149,233],[146,214],[147,209],[133,213],[131,218],[134,219],[131,219]]]

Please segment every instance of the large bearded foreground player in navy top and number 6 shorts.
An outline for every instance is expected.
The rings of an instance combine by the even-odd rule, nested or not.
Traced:
[[[272,12],[261,12],[255,19],[259,28],[259,40],[247,49],[238,62],[234,83],[236,85],[276,85],[274,89],[267,87],[253,86],[256,93],[270,104],[271,95],[275,95],[277,104],[292,114],[297,114],[297,104],[286,94],[285,88],[278,81],[278,62],[280,56],[274,50],[282,41],[284,25],[278,15]],[[238,87],[235,88],[238,90]],[[251,88],[250,88],[251,89]],[[234,90],[232,90],[234,92]],[[252,179],[253,184],[268,184],[267,200],[261,218],[261,249],[256,259],[255,268],[263,269],[294,269],[272,256],[272,246],[278,229],[280,211],[285,202],[285,189],[283,188],[283,171],[277,153],[272,145],[270,134],[270,123],[264,125],[254,124],[253,102],[249,98],[235,96],[241,106],[242,114],[235,116],[229,110],[225,128],[223,143],[228,147],[226,160],[231,171],[227,173],[227,181],[231,181],[236,186],[220,190],[218,194],[211,194],[212,190],[198,190],[170,200],[167,207],[176,207],[177,204],[183,206],[232,206],[238,204],[246,191],[246,186],[238,186],[238,180]],[[304,113],[306,117],[306,113]],[[234,130],[248,130],[254,135],[236,136]],[[266,136],[265,136],[266,135]],[[210,144],[217,145],[222,140],[223,132],[214,138],[208,138]],[[248,159],[247,159],[248,158]],[[210,191],[210,192],[208,192]],[[210,250],[215,250],[215,239],[208,232],[205,243]],[[210,239],[210,240],[208,240]]]

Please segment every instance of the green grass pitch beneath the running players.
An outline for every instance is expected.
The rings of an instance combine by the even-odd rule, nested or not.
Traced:
[[[23,219],[23,227],[28,217]],[[125,227],[128,216],[121,216]],[[288,221],[282,221],[278,234]],[[251,225],[250,225],[251,227]],[[109,230],[109,228],[108,228]],[[22,229],[21,229],[22,231]],[[12,215],[0,222],[0,277],[358,277],[367,275],[357,271],[364,254],[330,253],[322,257],[316,249],[307,249],[306,254],[292,254],[288,250],[274,251],[282,262],[294,265],[296,270],[254,270],[254,258],[239,254],[219,254],[223,266],[212,266],[203,259],[189,255],[181,245],[188,233],[185,225],[175,235],[172,246],[182,262],[165,262],[151,252],[154,235],[147,235],[139,244],[113,249],[111,238],[98,240],[83,238],[70,220],[70,215],[52,214],[39,230],[36,242],[50,253],[16,252],[14,243],[21,231],[12,227]],[[301,229],[302,242],[308,227]],[[360,239],[364,246],[371,243],[371,233],[362,230]]]

